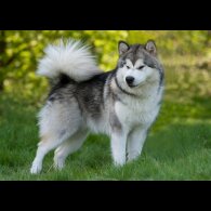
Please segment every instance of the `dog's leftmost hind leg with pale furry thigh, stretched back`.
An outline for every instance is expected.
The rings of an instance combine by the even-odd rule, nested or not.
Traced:
[[[80,110],[75,102],[47,104],[39,117],[41,142],[30,173],[40,173],[44,156],[75,134],[81,123]]]

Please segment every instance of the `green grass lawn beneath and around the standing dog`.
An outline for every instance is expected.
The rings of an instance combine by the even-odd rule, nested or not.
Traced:
[[[40,104],[2,94],[0,180],[211,180],[211,100],[205,90],[210,90],[210,83],[201,76],[203,70],[192,70],[194,74],[186,76],[190,70],[182,65],[168,66],[166,62],[166,68],[174,71],[167,71],[159,117],[149,131],[142,156],[122,168],[111,163],[109,139],[91,134],[80,150],[67,158],[64,170],[52,168],[52,151],[43,161],[42,173],[30,175],[39,141],[36,114]],[[179,67],[184,77],[174,84]],[[202,81],[203,87],[196,80],[192,85],[190,75],[200,84]]]

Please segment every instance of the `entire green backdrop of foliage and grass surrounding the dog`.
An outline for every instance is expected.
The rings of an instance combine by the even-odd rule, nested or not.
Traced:
[[[49,171],[52,159],[47,157],[44,174],[28,174],[38,142],[36,115],[49,89],[48,80],[37,76],[36,69],[44,48],[61,38],[82,39],[90,44],[105,71],[116,67],[119,40],[156,41],[166,90],[140,162],[113,168],[108,139],[90,136],[64,171]],[[210,117],[211,31],[0,31],[0,180],[210,180]]]

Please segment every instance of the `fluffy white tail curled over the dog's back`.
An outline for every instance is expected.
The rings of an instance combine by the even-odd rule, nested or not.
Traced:
[[[62,40],[58,45],[49,45],[44,50],[45,56],[40,60],[37,72],[50,79],[56,79],[64,74],[75,81],[84,81],[102,71],[95,64],[89,47],[80,41]]]

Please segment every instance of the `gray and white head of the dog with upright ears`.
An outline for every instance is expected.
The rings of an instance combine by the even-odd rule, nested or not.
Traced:
[[[163,70],[153,40],[129,45],[119,41],[118,80],[126,89],[137,89],[148,82],[162,82]]]

